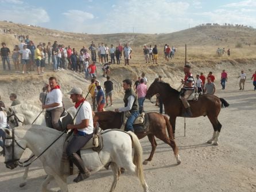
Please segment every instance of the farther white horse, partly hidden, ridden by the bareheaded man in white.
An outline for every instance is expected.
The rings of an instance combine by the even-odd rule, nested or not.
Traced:
[[[5,108],[5,112],[7,114],[8,123],[11,128],[32,124],[38,115],[39,116],[33,124],[46,126],[45,111],[42,111],[41,108],[36,107],[35,105],[29,103],[22,103],[10,108]],[[72,117],[74,117],[76,114],[76,109],[75,107],[70,107],[67,109],[67,112]],[[33,154],[31,156],[33,156]],[[33,160],[34,158],[36,158],[36,156],[31,158],[31,160]],[[28,172],[29,166],[25,168],[25,172],[22,176],[22,182],[20,183],[20,187],[24,187],[26,185],[28,179]]]

